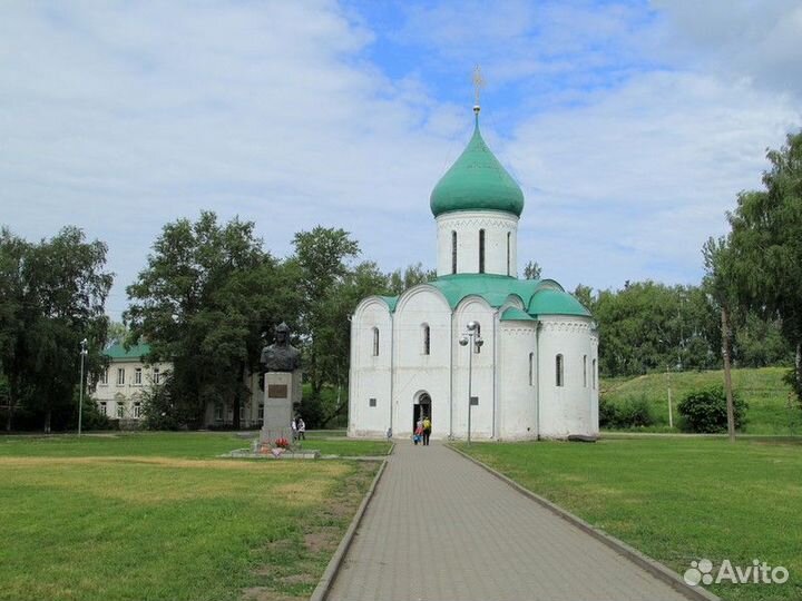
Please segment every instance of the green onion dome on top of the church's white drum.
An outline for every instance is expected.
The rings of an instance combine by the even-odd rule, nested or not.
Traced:
[[[479,116],[468,146],[431,193],[434,217],[454,210],[502,210],[520,216],[524,193],[479,132]]]

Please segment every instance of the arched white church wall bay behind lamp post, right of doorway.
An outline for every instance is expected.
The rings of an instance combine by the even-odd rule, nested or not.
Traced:
[[[472,354],[471,394],[479,397],[479,405],[471,410],[471,439],[490,439],[493,435],[495,407],[495,354],[496,311],[485,299],[471,296],[454,311],[451,346],[453,352],[453,435],[466,439],[468,434],[468,353],[469,346],[460,346],[459,339],[469,322],[477,322],[485,341],[479,353]]]

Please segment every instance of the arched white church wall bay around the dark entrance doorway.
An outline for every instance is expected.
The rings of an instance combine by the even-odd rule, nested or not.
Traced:
[[[424,326],[429,327],[428,355]],[[427,393],[431,397],[432,437],[444,437],[451,411],[451,308],[437,288],[415,286],[399,298],[393,327],[393,435],[412,434],[414,404]]]

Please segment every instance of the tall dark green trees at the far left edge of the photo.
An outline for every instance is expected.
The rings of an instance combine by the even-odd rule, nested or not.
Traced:
[[[105,303],[113,276],[104,270],[107,247],[65,227],[29,244],[0,233],[0,366],[11,405],[25,403],[45,431],[68,425],[76,414],[80,342],[87,339],[85,374],[105,363],[108,317]],[[12,427],[13,410],[7,427]]]

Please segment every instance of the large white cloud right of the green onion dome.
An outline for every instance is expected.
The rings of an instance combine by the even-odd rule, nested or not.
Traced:
[[[528,119],[506,148],[528,191],[519,253],[571,285],[698,282],[702,244],[799,122],[789,98],[691,72]]]

